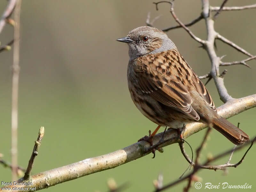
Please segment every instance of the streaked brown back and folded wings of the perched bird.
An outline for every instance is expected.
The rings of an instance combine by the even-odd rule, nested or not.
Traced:
[[[135,70],[141,91],[166,106],[199,120],[191,106],[190,86],[216,110],[204,84],[176,50],[142,56],[135,60]]]

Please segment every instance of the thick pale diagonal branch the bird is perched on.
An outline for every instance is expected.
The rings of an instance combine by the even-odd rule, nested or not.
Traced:
[[[256,107],[256,94],[250,95],[240,99],[232,99],[227,103],[217,108],[220,116],[228,118],[238,113],[241,113],[247,109]],[[190,123],[186,125],[186,130],[183,133],[183,138],[186,139],[194,133],[204,129],[206,127],[203,123]],[[153,144],[156,144],[161,138],[163,133],[159,133],[153,137]],[[164,140],[168,140],[159,147],[164,147],[180,141],[179,135],[176,130],[167,130],[164,135]],[[32,186],[36,187],[36,190],[47,188],[65,181],[77,179],[85,175],[89,175],[95,172],[104,171],[107,169],[115,168],[119,165],[128,163],[145,155],[148,155],[150,145],[146,141],[140,141],[134,143],[123,149],[108,153],[106,155],[92,157],[83,161],[59,167],[50,171],[42,172],[31,176]],[[19,182],[23,181],[22,179]],[[10,187],[10,186],[5,186]],[[14,187],[14,186],[12,186]],[[16,185],[15,187],[22,187]],[[0,189],[0,191],[3,191]]]

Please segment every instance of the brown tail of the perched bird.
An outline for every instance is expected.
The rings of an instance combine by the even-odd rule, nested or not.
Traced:
[[[213,128],[228,138],[235,145],[242,145],[249,141],[249,136],[223,117],[213,118]]]

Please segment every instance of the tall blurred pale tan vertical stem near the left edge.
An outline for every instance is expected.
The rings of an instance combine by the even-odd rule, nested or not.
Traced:
[[[19,58],[20,58],[20,5],[21,0],[17,0],[14,9],[14,46],[12,65],[12,180],[17,179],[18,166],[18,92],[19,92]]]

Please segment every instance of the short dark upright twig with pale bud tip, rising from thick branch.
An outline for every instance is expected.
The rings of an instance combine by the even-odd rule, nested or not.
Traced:
[[[35,141],[35,145],[34,145],[32,154],[31,154],[30,159],[28,161],[28,167],[27,167],[26,172],[25,172],[24,177],[23,177],[23,180],[25,180],[25,181],[30,180],[30,173],[31,173],[31,170],[32,170],[32,167],[33,167],[33,164],[34,164],[34,160],[35,160],[36,156],[38,155],[38,148],[41,145],[41,141],[42,141],[43,137],[44,137],[44,127],[41,127],[39,129],[38,137],[37,137],[37,140]]]

